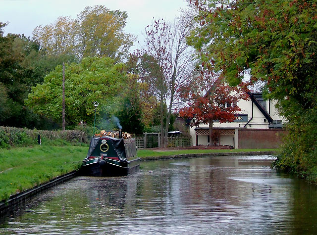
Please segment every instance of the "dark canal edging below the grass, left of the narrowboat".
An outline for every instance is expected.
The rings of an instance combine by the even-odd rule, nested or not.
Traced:
[[[5,215],[9,212],[12,212],[16,209],[19,209],[20,205],[25,204],[27,201],[29,201],[31,198],[38,195],[39,193],[49,188],[52,188],[53,186],[59,185],[71,178],[74,178],[76,175],[77,175],[77,171],[72,171],[65,175],[56,177],[47,183],[44,183],[42,185],[36,186],[34,188],[31,188],[21,193],[10,196],[8,200],[4,200],[0,202],[0,216]]]

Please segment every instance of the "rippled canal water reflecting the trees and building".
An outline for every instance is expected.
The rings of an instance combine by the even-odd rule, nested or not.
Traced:
[[[127,177],[77,177],[1,218],[0,234],[316,234],[317,187],[272,160],[150,161]]]

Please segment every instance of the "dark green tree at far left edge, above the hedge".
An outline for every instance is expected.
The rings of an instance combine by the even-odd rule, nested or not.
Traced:
[[[37,52],[36,46],[24,36],[8,34],[3,37],[1,29],[5,25],[0,22],[0,125],[39,127],[41,118],[23,104],[33,74],[24,61],[29,53]]]

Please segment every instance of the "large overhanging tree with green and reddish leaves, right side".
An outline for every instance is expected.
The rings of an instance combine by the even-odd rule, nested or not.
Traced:
[[[290,130],[280,166],[303,175],[316,171],[312,166],[317,165],[317,141],[309,130],[315,126],[317,113],[317,1],[190,3],[198,10],[198,25],[189,43],[202,61],[230,84],[239,83],[248,72],[251,82],[265,82],[267,98],[277,99]]]

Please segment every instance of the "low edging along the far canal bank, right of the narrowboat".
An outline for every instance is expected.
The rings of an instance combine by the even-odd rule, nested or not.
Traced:
[[[275,151],[187,153],[187,154],[179,154],[179,155],[143,157],[143,158],[141,158],[141,161],[164,160],[164,159],[181,159],[181,158],[196,158],[196,157],[210,157],[210,156],[273,155],[275,153],[276,153]]]

